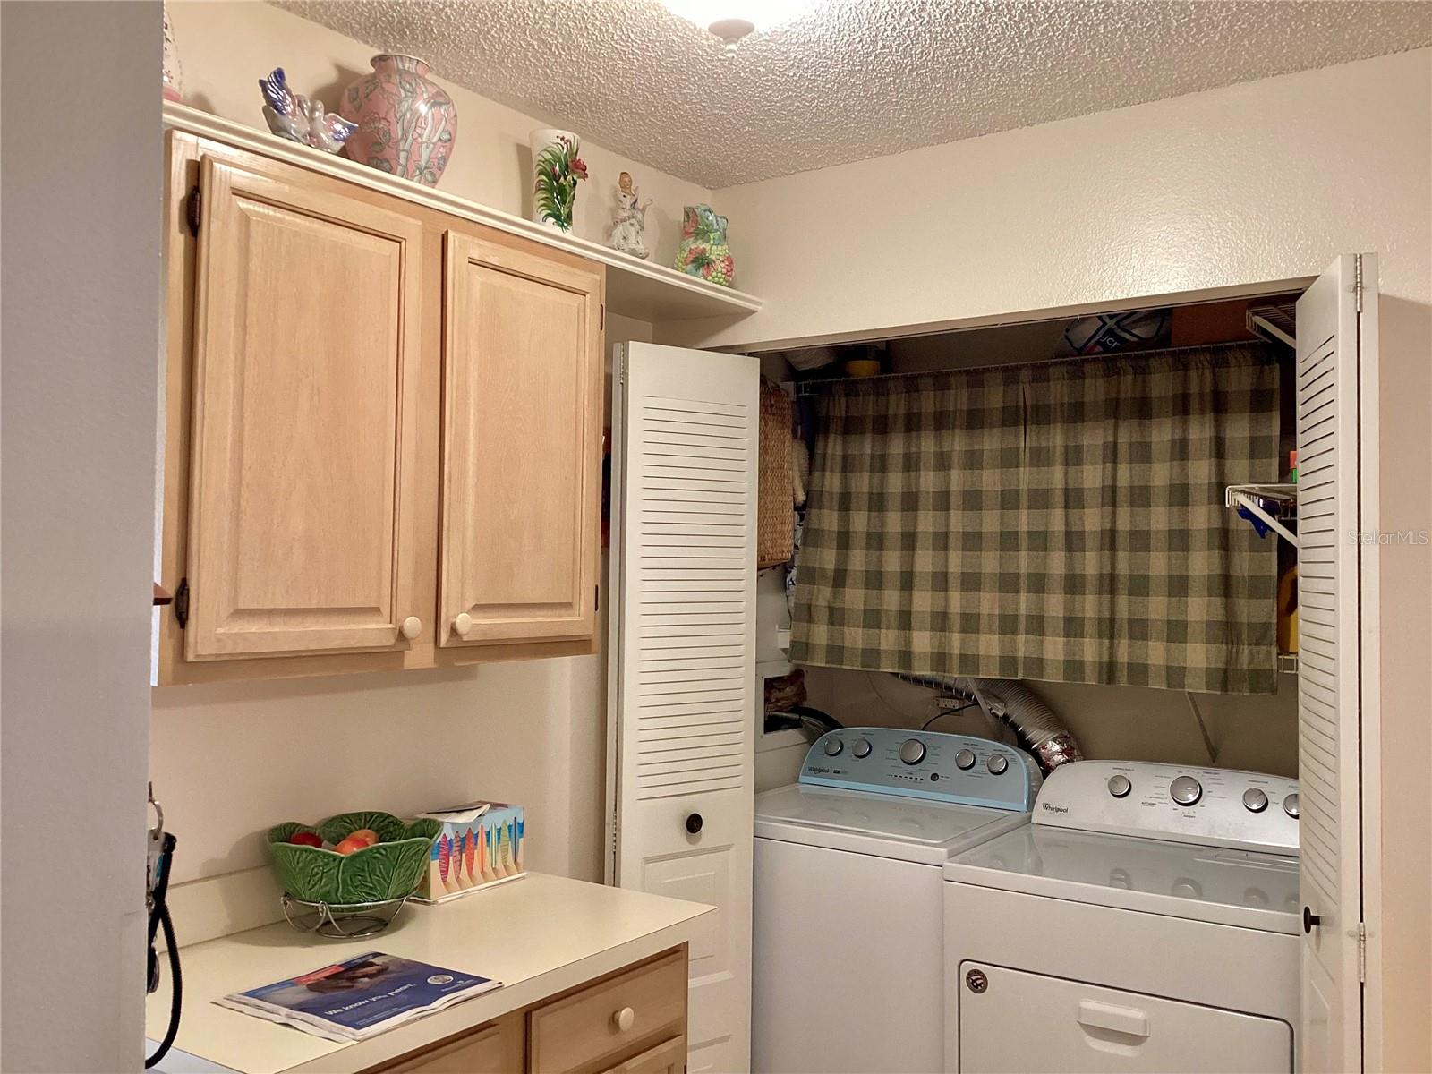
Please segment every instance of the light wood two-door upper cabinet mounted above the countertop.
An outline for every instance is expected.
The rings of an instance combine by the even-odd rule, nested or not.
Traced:
[[[591,652],[601,265],[182,132],[165,228],[160,684]]]

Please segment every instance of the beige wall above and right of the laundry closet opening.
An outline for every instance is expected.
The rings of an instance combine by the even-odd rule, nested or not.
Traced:
[[[1237,288],[1380,256],[1383,531],[1432,528],[1432,50],[1230,86],[717,192],[736,325],[662,342],[766,345],[1018,319]],[[1378,553],[1380,720],[1365,813],[1382,899],[1372,1067],[1432,1070],[1432,551]],[[1380,772],[1378,768],[1380,766]],[[1380,822],[1376,819],[1380,818]],[[1378,826],[1380,823],[1380,826]],[[1372,859],[1376,861],[1376,856]],[[1380,964],[1379,964],[1380,959]],[[1380,1050],[1380,1051],[1379,1051]],[[1372,1068],[1369,1067],[1369,1068]]]

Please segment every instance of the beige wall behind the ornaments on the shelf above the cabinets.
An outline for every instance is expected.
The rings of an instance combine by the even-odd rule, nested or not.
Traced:
[[[170,0],[175,42],[183,63],[185,102],[226,119],[268,129],[258,80],[282,67],[295,93],[338,110],[342,90],[371,70],[384,42],[359,43],[328,27],[258,0]],[[441,83],[441,73],[434,77]],[[546,120],[523,115],[475,93],[442,83],[457,105],[457,145],[438,186],[494,209],[526,216],[531,211],[531,153],[527,135]],[[580,130],[577,132],[581,133]],[[663,265],[676,256],[682,206],[710,202],[709,190],[584,142],[591,179],[577,190],[573,232],[604,242],[611,223],[619,173],[632,172],[647,212],[652,255]]]

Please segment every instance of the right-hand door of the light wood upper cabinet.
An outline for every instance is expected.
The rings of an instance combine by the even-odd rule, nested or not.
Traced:
[[[440,644],[594,632],[600,304],[600,271],[447,235]]]

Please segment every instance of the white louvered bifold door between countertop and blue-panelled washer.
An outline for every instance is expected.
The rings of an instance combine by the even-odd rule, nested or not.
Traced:
[[[759,365],[626,344],[614,379],[610,879],[717,908],[689,1070],[749,1070]]]

